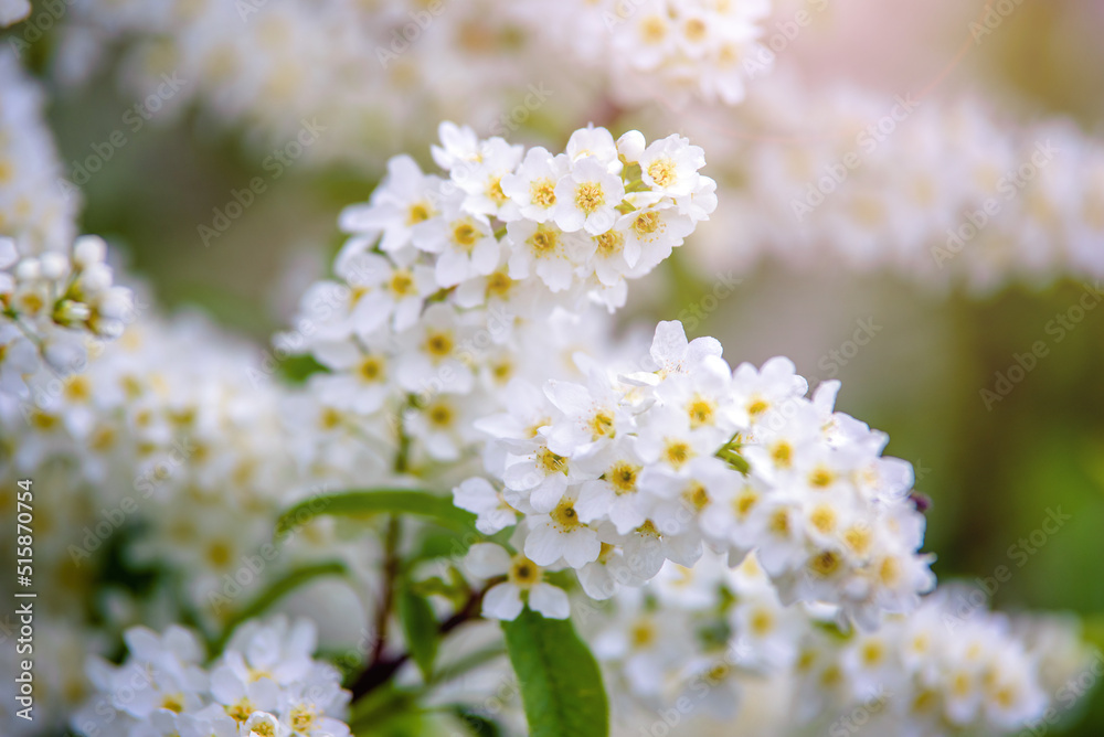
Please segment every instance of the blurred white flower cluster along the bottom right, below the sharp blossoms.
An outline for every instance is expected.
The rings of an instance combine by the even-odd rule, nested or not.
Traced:
[[[737,724],[783,735],[809,725],[916,737],[1022,729],[1052,698],[1044,648],[1065,653],[1052,680],[1084,667],[1078,633],[1045,620],[1016,631],[962,594],[924,597],[874,632],[839,630],[832,607],[784,606],[756,554],[734,569],[707,554],[692,570],[667,564],[648,588],[622,589],[591,640],[615,696],[630,712],[647,704],[652,719],[681,699],[732,725],[741,698],[766,686],[773,709]],[[1031,632],[1045,633],[1045,645]]]

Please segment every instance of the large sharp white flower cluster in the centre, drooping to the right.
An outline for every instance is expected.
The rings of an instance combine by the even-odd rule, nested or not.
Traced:
[[[783,601],[838,604],[866,627],[934,585],[916,554],[912,468],[880,456],[884,434],[832,410],[838,382],[806,398],[788,360],[732,371],[715,340],[688,342],[678,322],[659,324],[644,363],[622,375],[592,364],[585,384],[543,392],[516,383],[508,412],[476,423],[501,488],[469,480],[456,503],[487,533],[524,515],[512,567],[488,548],[469,560],[477,576],[508,575],[487,615],[516,617],[543,568],[574,568],[604,599],[665,560],[692,566],[703,546],[733,564],[755,551]],[[546,605],[546,589],[531,595]]]

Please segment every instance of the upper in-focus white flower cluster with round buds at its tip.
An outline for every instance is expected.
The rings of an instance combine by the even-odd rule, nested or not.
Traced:
[[[447,178],[396,157],[371,201],[342,214],[354,237],[336,266],[370,292],[357,303],[362,334],[389,320],[406,330],[442,289],[455,289],[458,307],[509,316],[548,313],[550,301],[574,310],[583,296],[612,310],[626,279],[648,274],[716,206],[713,180],[698,172],[702,150],[677,135],[648,146],[638,131],[615,141],[592,126],[559,154],[448,122],[440,138],[433,157]],[[376,247],[383,255],[363,253]]]

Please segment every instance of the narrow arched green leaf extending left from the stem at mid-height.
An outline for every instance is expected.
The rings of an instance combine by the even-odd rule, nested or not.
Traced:
[[[433,520],[456,532],[475,534],[474,514],[454,506],[453,500],[447,496],[417,489],[368,489],[311,496],[280,515],[276,523],[276,534],[282,535],[323,514],[413,514]]]

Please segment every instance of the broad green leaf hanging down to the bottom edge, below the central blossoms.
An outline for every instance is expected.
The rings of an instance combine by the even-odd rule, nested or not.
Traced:
[[[602,673],[571,621],[527,609],[502,622],[502,630],[531,737],[606,737],[609,703]]]

